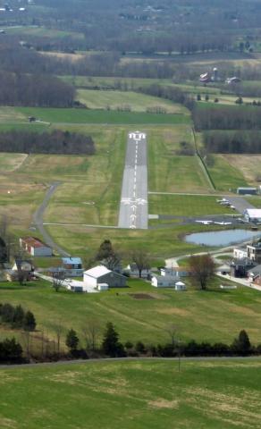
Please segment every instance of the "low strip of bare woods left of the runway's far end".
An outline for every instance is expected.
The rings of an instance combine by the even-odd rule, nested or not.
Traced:
[[[94,155],[95,143],[90,136],[69,131],[38,133],[11,130],[0,133],[0,151],[23,154]]]

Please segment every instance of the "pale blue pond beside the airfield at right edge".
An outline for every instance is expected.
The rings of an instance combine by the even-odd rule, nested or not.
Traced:
[[[229,246],[240,243],[241,241],[251,240],[255,237],[261,237],[261,231],[249,230],[225,230],[225,231],[206,231],[189,234],[185,241],[202,246]]]

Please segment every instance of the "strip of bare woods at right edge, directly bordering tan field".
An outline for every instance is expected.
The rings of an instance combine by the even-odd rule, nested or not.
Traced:
[[[205,131],[203,142],[206,153],[260,154],[259,131]]]

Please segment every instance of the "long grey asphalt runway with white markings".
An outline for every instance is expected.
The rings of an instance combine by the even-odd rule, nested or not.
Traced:
[[[118,226],[147,229],[147,139],[139,131],[128,135]]]

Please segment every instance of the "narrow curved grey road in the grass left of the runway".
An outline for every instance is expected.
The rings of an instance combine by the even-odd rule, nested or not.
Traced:
[[[44,198],[44,201],[42,202],[41,206],[38,207],[36,213],[33,215],[33,222],[36,228],[38,228],[38,231],[42,234],[44,241],[50,248],[54,248],[56,252],[61,255],[62,257],[70,257],[70,254],[65,252],[63,248],[60,248],[55,241],[52,239],[52,237],[48,234],[46,231],[44,224],[43,224],[43,217],[46,210],[46,206],[48,205],[48,202],[50,198],[55,193],[56,188],[60,185],[59,181],[55,181],[51,184],[50,188],[46,192],[46,196]]]

